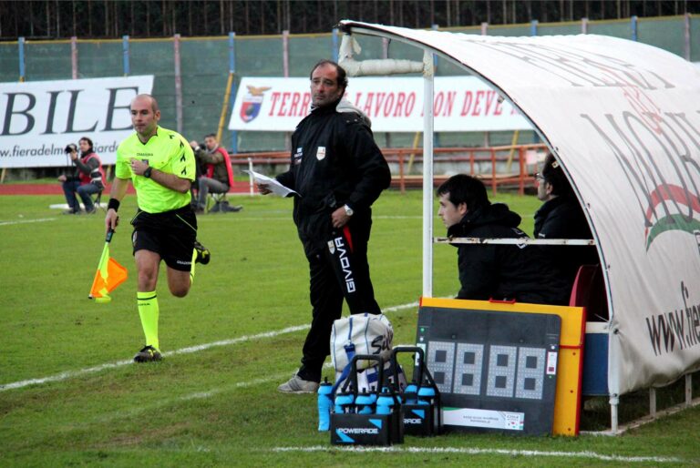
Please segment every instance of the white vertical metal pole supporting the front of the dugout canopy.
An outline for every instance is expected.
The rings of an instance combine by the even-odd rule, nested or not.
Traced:
[[[433,296],[433,54],[423,52],[423,297]]]

